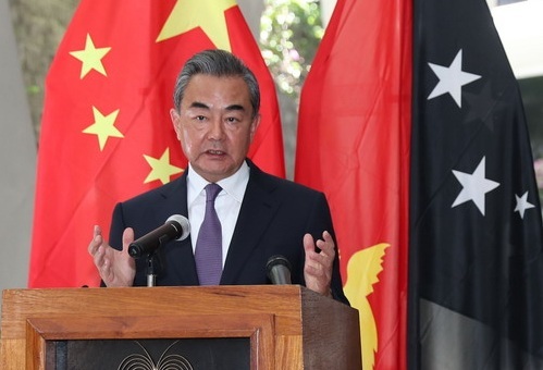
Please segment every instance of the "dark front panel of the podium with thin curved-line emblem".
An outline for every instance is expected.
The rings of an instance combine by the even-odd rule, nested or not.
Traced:
[[[250,370],[250,338],[46,341],[46,370]]]

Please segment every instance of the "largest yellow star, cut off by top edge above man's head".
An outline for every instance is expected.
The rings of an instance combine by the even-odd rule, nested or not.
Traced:
[[[224,11],[235,5],[235,0],[177,0],[157,42],[201,27],[218,49],[232,51]]]

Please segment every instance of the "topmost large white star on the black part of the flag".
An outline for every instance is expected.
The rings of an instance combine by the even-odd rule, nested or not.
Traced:
[[[451,94],[458,108],[461,108],[461,87],[481,76],[461,70],[461,49],[456,54],[453,63],[449,66],[437,65],[428,63],[435,75],[440,78],[432,92],[430,92],[428,100],[436,98],[443,94]]]

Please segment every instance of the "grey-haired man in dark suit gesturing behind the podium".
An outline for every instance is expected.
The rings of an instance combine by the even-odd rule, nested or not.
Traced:
[[[348,304],[324,195],[267,174],[246,158],[260,121],[259,104],[255,75],[230,52],[207,50],[187,61],[171,118],[188,169],[115,207],[112,247],[95,227],[88,250],[104,285],[146,284],[147,262],[129,257],[128,245],[175,213],[188,218],[190,236],[158,249],[156,284],[199,285],[203,268],[195,259],[196,236],[207,217],[205,187],[212,183],[220,185],[214,209],[222,227],[217,284],[267,284],[267,261],[281,255],[292,264],[294,284]]]

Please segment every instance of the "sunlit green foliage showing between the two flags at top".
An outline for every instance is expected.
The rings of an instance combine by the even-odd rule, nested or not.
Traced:
[[[324,34],[318,0],[264,0],[260,25],[262,55],[279,89],[299,96]]]

